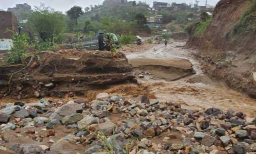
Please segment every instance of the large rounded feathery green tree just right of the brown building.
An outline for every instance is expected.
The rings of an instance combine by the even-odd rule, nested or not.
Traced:
[[[53,34],[59,35],[66,27],[65,16],[61,12],[41,6],[32,13],[26,24],[32,32],[39,34],[42,40],[53,39]]]

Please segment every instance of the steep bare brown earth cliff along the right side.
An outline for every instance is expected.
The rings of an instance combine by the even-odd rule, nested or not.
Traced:
[[[256,32],[234,34],[234,27],[254,3],[250,0],[220,0],[212,22],[202,37],[190,36],[187,46],[196,46],[206,73],[229,87],[256,97],[251,74],[256,72]],[[252,23],[254,24],[254,23]]]

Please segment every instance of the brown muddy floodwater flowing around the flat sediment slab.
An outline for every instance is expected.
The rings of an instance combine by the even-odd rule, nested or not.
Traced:
[[[190,109],[217,107],[228,110],[232,108],[242,111],[248,116],[255,116],[256,100],[231,90],[221,82],[206,76],[199,62],[192,56],[193,52],[198,51],[186,49],[184,47],[185,44],[186,42],[173,42],[168,44],[167,48],[164,48],[163,44],[157,44],[148,50],[128,53],[126,56],[131,61],[134,61],[136,58],[144,59],[142,63],[145,63],[148,59],[148,63],[152,62],[152,65],[157,66],[161,64],[156,64],[151,59],[160,59],[163,61],[163,65],[165,60],[178,60],[175,67],[177,65],[179,67],[186,66],[186,60],[192,63],[195,74],[179,78],[178,80],[168,81],[157,76],[154,77],[154,73],[150,73],[150,77],[145,75],[144,78],[138,78],[140,83],[150,87],[150,91],[154,92],[157,100],[177,102],[182,104],[183,108]]]

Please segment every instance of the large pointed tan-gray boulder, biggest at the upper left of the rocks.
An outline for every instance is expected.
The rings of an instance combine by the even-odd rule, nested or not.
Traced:
[[[70,103],[70,104],[65,104],[55,110],[54,113],[60,114],[60,116],[69,116],[71,114],[75,114],[80,112],[80,110],[83,110],[82,106],[80,104],[76,103]]]

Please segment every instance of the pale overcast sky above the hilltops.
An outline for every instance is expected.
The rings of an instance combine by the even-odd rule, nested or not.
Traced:
[[[50,6],[51,8],[54,8],[55,10],[66,12],[69,8],[71,8],[74,5],[81,6],[83,8],[90,6],[91,4],[100,4],[104,0],[0,0],[0,9],[7,10],[7,8],[15,7],[15,4],[23,4],[28,3],[32,8],[34,6],[40,6],[40,3],[46,4],[46,6]],[[137,2],[139,0],[136,0]],[[141,0],[142,2],[145,2],[145,0]],[[150,4],[152,6],[153,1],[158,2],[177,2],[177,3],[191,3],[195,2],[195,0],[146,0],[147,4]],[[200,5],[205,4],[205,0],[199,0]],[[219,0],[208,0],[208,4],[210,5],[216,5]]]

